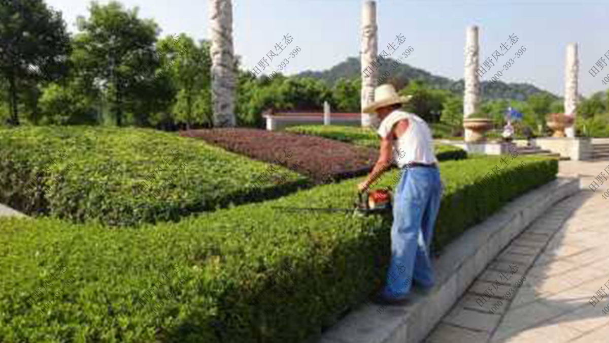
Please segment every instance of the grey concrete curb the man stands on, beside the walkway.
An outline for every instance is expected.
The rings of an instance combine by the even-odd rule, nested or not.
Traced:
[[[401,306],[354,310],[322,335],[319,343],[421,342],[499,251],[550,206],[580,191],[580,180],[558,178],[513,200],[465,231],[434,261],[437,283],[427,295]],[[363,300],[363,299],[362,299]]]

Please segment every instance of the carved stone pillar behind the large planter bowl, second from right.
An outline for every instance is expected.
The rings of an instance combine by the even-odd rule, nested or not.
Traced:
[[[465,68],[463,74],[463,82],[465,87],[463,90],[463,119],[471,117],[471,114],[477,112],[480,96],[480,81],[476,71],[479,68],[478,63],[478,27],[470,26],[465,30]],[[470,129],[465,129],[465,142],[468,142],[473,137],[473,132]]]

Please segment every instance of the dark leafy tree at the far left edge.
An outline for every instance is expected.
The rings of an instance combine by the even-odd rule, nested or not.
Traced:
[[[19,125],[19,81],[37,79],[41,70],[62,63],[69,44],[61,13],[42,0],[2,1],[0,23],[0,74],[9,83],[10,123]],[[62,72],[59,68],[51,75]]]

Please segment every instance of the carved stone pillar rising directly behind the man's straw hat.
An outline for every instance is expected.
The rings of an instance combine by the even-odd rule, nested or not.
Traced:
[[[361,40],[361,51],[360,60],[362,63],[362,98],[361,98],[361,109],[367,104],[375,101],[375,80],[376,72],[368,72],[369,77],[364,74],[364,70],[370,66],[377,56],[377,31],[376,26],[376,2],[366,1],[362,8],[362,40]],[[367,127],[371,125],[370,114],[362,112],[362,126]]]

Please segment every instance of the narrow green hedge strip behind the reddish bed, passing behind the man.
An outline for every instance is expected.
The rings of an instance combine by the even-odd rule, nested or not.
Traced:
[[[371,148],[379,147],[379,137],[372,129],[356,128],[353,126],[337,125],[299,125],[286,128],[288,132],[306,135],[319,135],[321,137],[336,139],[342,142],[368,146]],[[449,161],[456,159],[466,159],[465,150],[452,145],[436,145],[435,157],[438,161]]]

